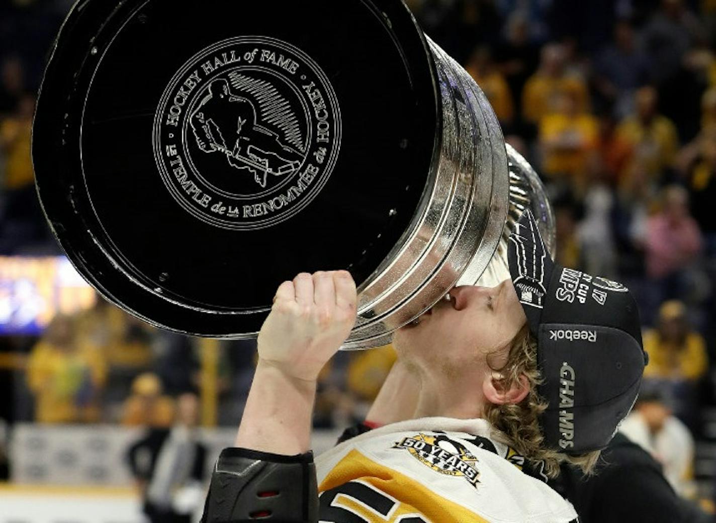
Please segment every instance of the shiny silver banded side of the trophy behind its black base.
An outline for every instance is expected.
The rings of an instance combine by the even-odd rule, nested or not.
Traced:
[[[421,211],[396,249],[359,288],[358,321],[344,349],[390,342],[458,279],[482,274],[508,216],[508,164],[497,117],[480,87],[428,39],[442,103],[440,149]]]

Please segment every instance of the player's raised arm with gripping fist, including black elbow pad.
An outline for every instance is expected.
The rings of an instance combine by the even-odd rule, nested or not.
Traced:
[[[356,286],[345,271],[301,273],[276,290],[258,333],[258,365],[235,445],[219,457],[203,522],[316,522],[309,452],[321,368],[356,320]]]

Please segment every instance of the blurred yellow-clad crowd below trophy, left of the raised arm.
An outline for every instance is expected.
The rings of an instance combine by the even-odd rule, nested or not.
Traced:
[[[97,297],[95,305],[58,314],[39,337],[5,337],[3,350],[19,352],[12,421],[119,423],[168,428],[176,398],[198,395],[211,380],[219,408],[211,424],[236,423],[253,375],[253,342],[206,342],[166,332]],[[207,345],[216,343],[216,345]],[[206,353],[216,347],[207,373]],[[25,395],[29,401],[23,402]]]

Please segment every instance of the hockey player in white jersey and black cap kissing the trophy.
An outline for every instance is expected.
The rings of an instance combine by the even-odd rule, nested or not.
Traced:
[[[315,464],[316,377],[354,325],[355,284],[347,272],[281,284],[203,521],[576,521],[545,480],[560,461],[589,469],[632,407],[646,361],[636,304],[555,264],[529,212],[508,259],[511,280],[452,289],[397,332],[399,363],[369,420],[387,424]]]

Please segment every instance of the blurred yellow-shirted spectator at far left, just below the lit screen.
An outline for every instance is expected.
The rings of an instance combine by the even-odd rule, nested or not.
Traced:
[[[57,315],[28,360],[27,383],[35,395],[35,419],[39,423],[99,421],[106,375],[100,352],[80,345],[72,318]]]

